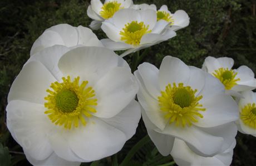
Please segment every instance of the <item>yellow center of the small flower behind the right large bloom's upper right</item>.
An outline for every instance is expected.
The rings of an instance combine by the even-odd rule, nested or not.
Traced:
[[[232,89],[233,86],[237,85],[237,81],[240,79],[235,79],[237,72],[234,72],[232,69],[219,68],[212,73],[217,79],[219,79],[222,84],[225,86],[226,90]]]

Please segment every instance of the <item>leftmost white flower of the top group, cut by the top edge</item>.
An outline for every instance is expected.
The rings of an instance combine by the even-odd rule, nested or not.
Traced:
[[[134,4],[132,0],[106,0],[104,4],[100,0],[91,0],[87,8],[87,15],[94,19],[89,25],[92,29],[100,29],[101,22],[112,18],[120,9],[130,8]]]

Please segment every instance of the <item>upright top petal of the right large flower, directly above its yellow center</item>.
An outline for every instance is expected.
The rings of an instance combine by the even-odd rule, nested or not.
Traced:
[[[165,86],[173,84],[178,85],[180,82],[187,85],[189,80],[190,69],[178,58],[165,56],[159,69],[160,89],[165,90]]]

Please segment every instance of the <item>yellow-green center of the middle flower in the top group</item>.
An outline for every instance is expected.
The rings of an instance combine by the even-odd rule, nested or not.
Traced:
[[[143,35],[150,33],[149,25],[145,25],[144,22],[138,23],[137,21],[132,21],[131,23],[125,24],[125,28],[119,33],[121,35],[121,40],[127,44],[139,45],[140,40]]]

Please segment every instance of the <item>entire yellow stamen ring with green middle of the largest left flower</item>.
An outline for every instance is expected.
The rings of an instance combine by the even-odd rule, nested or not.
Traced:
[[[62,77],[63,82],[53,82],[47,89],[48,95],[45,97],[45,113],[52,123],[71,129],[78,127],[80,122],[86,125],[86,118],[97,112],[95,106],[97,99],[92,87],[86,87],[88,81],[79,84],[80,77],[71,81],[70,76]]]

